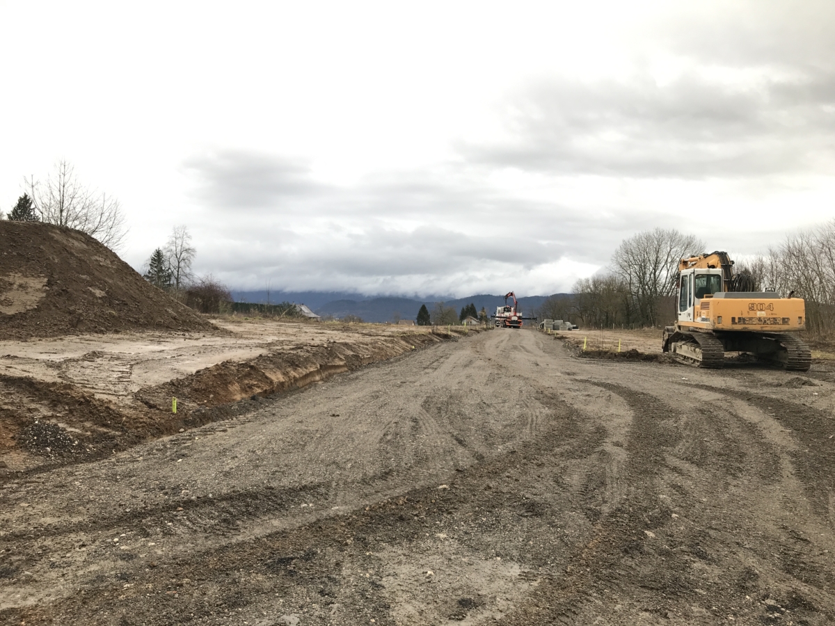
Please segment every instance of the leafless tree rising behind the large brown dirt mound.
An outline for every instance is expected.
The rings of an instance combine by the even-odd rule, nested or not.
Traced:
[[[61,159],[39,185],[34,177],[26,181],[35,206],[48,224],[65,226],[95,237],[111,250],[119,250],[127,235],[119,200],[91,190],[78,181],[73,165]]]

